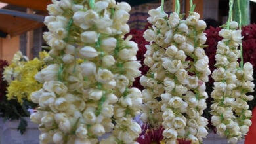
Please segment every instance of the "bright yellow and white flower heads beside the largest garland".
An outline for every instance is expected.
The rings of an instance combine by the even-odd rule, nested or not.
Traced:
[[[11,65],[5,67],[3,72],[3,77],[8,82],[7,99],[17,99],[19,103],[22,103],[22,99],[30,101],[30,94],[41,88],[42,84],[34,76],[43,68],[43,58],[47,53],[41,52],[40,55],[40,59],[30,61],[20,51],[14,55]]]

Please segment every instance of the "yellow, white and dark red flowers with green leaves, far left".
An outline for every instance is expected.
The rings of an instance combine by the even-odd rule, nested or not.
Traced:
[[[47,53],[41,52],[40,59],[29,61],[18,51],[10,65],[1,60],[1,117],[4,121],[20,120],[18,130],[21,134],[26,131],[27,122],[24,117],[30,116],[28,109],[37,106],[30,100],[30,94],[41,87],[34,76],[43,68],[45,55]]]

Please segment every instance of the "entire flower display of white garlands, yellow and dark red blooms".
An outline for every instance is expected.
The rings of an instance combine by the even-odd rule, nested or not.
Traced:
[[[234,21],[229,0],[226,23],[206,29],[188,2],[183,14],[179,0],[173,12],[162,0],[139,31],[129,3],[53,0],[47,52],[1,61],[1,115],[19,119],[21,133],[30,117],[39,134],[31,143],[244,143],[255,24],[242,27],[239,0]]]

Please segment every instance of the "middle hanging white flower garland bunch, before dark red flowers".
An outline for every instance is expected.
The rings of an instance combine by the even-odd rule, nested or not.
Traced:
[[[168,16],[161,7],[148,14],[152,29],[144,32],[150,42],[144,63],[150,69],[140,78],[145,88],[141,119],[155,126],[162,124],[166,143],[176,143],[179,138],[200,143],[207,135],[208,122],[202,114],[208,97],[205,82],[211,73],[203,50],[206,23],[196,12],[190,12],[186,20],[175,12]]]

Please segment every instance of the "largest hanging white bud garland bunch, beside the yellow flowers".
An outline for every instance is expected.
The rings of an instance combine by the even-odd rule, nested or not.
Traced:
[[[43,88],[31,120],[39,124],[40,143],[136,143],[141,132],[133,117],[142,94],[129,88],[140,75],[137,44],[129,32],[131,7],[114,0],[53,0],[43,34],[51,64],[35,78]],[[106,132],[107,139],[98,141]]]

